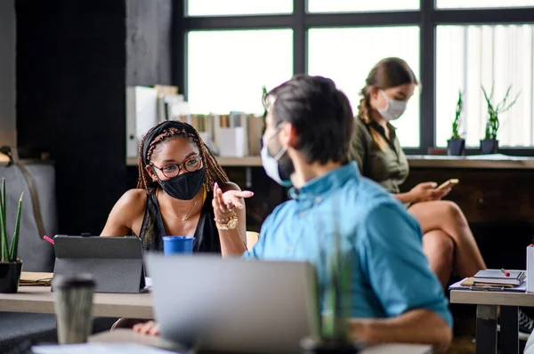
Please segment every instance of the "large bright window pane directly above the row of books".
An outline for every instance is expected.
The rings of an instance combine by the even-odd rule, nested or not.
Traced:
[[[291,29],[191,31],[187,93],[195,114],[263,113],[267,89],[293,75]]]

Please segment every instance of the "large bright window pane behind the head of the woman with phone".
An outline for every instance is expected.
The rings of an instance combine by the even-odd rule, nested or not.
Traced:
[[[352,102],[354,114],[360,89],[379,60],[396,56],[419,73],[419,28],[316,28],[309,31],[308,73],[333,79]],[[393,122],[403,147],[419,146],[419,94],[406,113]]]

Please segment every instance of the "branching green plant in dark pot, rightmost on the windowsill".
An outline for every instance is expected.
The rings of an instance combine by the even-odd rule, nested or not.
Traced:
[[[486,130],[484,133],[484,139],[481,140],[481,153],[482,154],[496,154],[498,151],[497,134],[498,134],[498,128],[500,127],[500,121],[499,121],[498,115],[501,113],[505,113],[508,109],[511,109],[512,106],[514,106],[520,94],[520,93],[517,93],[517,96],[515,96],[514,101],[506,105],[507,103],[506,101],[508,100],[508,96],[510,95],[511,89],[512,89],[512,85],[508,86],[508,89],[506,90],[505,98],[502,101],[498,102],[497,104],[494,104],[494,103],[491,103],[491,101],[493,100],[493,86],[491,86],[490,96],[488,96],[488,93],[486,93],[484,86],[482,86],[482,92],[484,93],[484,98],[486,99],[486,103],[488,104],[488,120],[486,122]]]

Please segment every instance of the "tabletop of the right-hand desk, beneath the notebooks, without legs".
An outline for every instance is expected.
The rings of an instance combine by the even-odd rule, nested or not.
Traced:
[[[534,293],[451,290],[450,302],[534,307]]]

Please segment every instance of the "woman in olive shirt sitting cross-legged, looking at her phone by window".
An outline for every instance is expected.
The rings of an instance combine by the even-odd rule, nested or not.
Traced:
[[[419,221],[423,251],[445,287],[453,270],[461,278],[473,277],[486,264],[464,213],[455,203],[441,200],[450,188],[436,189],[435,182],[425,182],[401,193],[409,165],[390,122],[404,113],[417,84],[412,69],[399,58],[380,60],[371,69],[360,92],[350,157],[364,176],[392,192]]]

